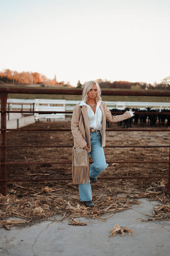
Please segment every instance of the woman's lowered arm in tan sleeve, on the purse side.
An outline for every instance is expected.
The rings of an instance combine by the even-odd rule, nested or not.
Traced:
[[[73,115],[71,119],[71,132],[74,137],[75,146],[78,145],[79,148],[83,148],[86,146],[87,143],[86,143],[86,140],[83,138],[82,133],[79,129],[80,115],[81,115],[81,111],[80,111],[79,105],[75,106],[75,108],[73,109]]]

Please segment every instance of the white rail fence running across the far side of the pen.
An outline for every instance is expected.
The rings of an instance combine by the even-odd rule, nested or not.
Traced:
[[[74,106],[79,103],[78,100],[50,100],[50,99],[8,99],[7,100],[7,110],[34,110],[34,111],[73,111]],[[170,103],[165,102],[133,102],[133,101],[105,101],[109,110],[119,109],[124,110],[125,108],[138,108],[140,110],[145,110],[146,108],[153,109],[170,109]],[[20,115],[24,115],[23,113]],[[14,114],[8,114],[9,119],[15,119]],[[71,117],[71,114],[58,113],[58,114],[38,114],[34,113],[35,120],[39,119],[65,119],[66,117]],[[17,117],[18,118],[18,117]]]

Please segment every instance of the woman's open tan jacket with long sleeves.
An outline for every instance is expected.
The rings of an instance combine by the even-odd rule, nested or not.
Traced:
[[[100,104],[100,109],[102,111],[102,147],[105,147],[106,121],[108,121],[109,123],[117,123],[130,118],[131,114],[128,111],[126,111],[123,115],[113,116],[111,114],[111,111],[107,108],[106,103],[103,101]],[[89,146],[88,153],[89,153],[91,151],[91,145],[90,145],[90,130],[89,130],[87,106],[85,105],[82,106],[82,113],[84,116],[85,129],[84,129],[82,116],[81,116],[80,103],[78,103],[73,109],[73,115],[71,120],[71,131],[74,137],[74,147],[83,148],[85,147],[86,144],[88,144]],[[85,132],[87,136],[87,143],[85,140],[86,138]]]

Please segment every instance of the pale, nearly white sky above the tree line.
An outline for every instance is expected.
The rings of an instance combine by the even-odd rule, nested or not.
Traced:
[[[170,0],[3,0],[0,13],[0,71],[73,86],[170,76]]]

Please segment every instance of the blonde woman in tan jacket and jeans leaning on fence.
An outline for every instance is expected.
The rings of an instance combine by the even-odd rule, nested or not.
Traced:
[[[84,86],[82,101],[75,106],[71,120],[74,147],[87,150],[94,161],[90,166],[90,177],[87,184],[79,184],[80,200],[87,207],[95,206],[92,202],[90,180],[96,183],[97,176],[108,166],[103,150],[105,146],[106,121],[109,123],[120,122],[132,117],[134,113],[126,111],[123,115],[113,116],[100,95],[101,89],[98,83],[95,81],[87,82]],[[85,129],[81,111],[84,117]]]

